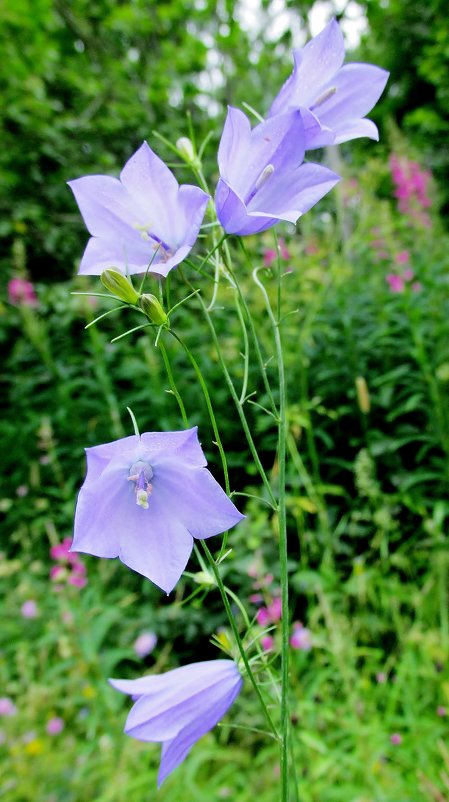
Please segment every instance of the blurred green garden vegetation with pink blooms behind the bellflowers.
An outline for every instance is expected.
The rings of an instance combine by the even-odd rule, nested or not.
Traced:
[[[308,5],[287,4],[297,16]],[[444,149],[426,134],[426,109],[442,131],[447,124],[436,68],[421,121],[416,94],[407,89],[413,71],[429,60],[430,44],[425,57],[410,45],[413,58],[405,58],[407,38],[401,33],[393,47],[393,28],[383,22],[405,25],[406,12],[410,20],[414,13],[408,5],[367,6],[372,31],[361,53],[392,70],[392,93],[373,115],[383,141],[359,143],[338,165],[344,180],[334,195],[297,232],[279,230],[289,253],[285,312],[297,310],[283,324],[292,621],[302,621],[312,637],[310,651],[292,649],[301,802],[449,799],[449,238],[438,173],[428,187],[428,219],[414,217],[398,209],[388,160],[394,150],[407,163],[431,161],[443,171]],[[292,26],[270,38],[274,4],[266,2],[255,46],[237,6],[7,0],[0,9],[0,56],[11,65],[0,79],[0,696],[16,708],[0,718],[6,802],[155,798],[159,747],[123,736],[129,703],[106,679],[213,658],[211,634],[226,638],[218,594],[195,576],[195,556],[193,576],[166,598],[120,562],[84,555],[86,587],[58,589],[49,549],[71,535],[83,448],[129,434],[126,406],[143,430],[182,426],[154,339],[137,333],[110,342],[136,325],[132,313],[84,330],[110,303],[70,294],[99,287],[94,279],[69,280],[87,237],[64,182],[89,172],[116,174],[142,138],[170,159],[152,131],[176,140],[189,131],[187,112],[199,141],[213,129],[205,170],[214,175],[223,105],[249,100],[263,111],[290,70],[295,35]],[[444,49],[441,15],[435,4],[432,16],[432,8],[421,26],[407,30],[426,41],[434,31],[435,48]],[[349,153],[343,148],[345,159]],[[176,174],[193,180],[186,167]],[[259,265],[273,238],[267,233],[246,244]],[[262,298],[238,244],[231,240],[230,247],[275,384]],[[207,279],[190,268],[184,275],[209,296]],[[402,281],[400,291],[391,276]],[[12,277],[33,279],[37,305],[8,299]],[[263,280],[274,294],[269,270]],[[149,286],[157,290],[154,279]],[[173,272],[171,289],[174,301],[187,294],[181,270]],[[213,315],[239,385],[241,327],[230,287],[222,286]],[[178,312],[176,328],[207,377],[233,491],[263,499],[194,298]],[[168,339],[166,345],[190,422],[200,426],[211,470],[222,481],[200,389],[182,350]],[[266,406],[256,368],[248,390]],[[247,414],[275,486],[274,421],[254,405]],[[278,593],[277,521],[254,498],[235,501],[247,519],[230,534],[223,571],[255,615],[255,584],[265,602]],[[22,609],[30,600],[35,618]],[[149,630],[157,646],[138,657],[134,641]],[[271,634],[276,651],[279,632]],[[277,709],[275,694],[272,703]],[[64,729],[51,735],[55,716]],[[248,724],[264,726],[247,689],[157,799],[250,802],[257,794],[272,802],[277,750],[244,729]]]

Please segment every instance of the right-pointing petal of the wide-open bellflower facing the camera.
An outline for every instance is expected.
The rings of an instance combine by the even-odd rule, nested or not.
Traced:
[[[173,459],[156,463],[158,495],[193,537],[207,538],[231,529],[242,515],[206,468],[187,470]]]

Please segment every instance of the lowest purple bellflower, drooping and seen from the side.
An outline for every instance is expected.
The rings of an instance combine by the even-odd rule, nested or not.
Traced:
[[[166,674],[109,682],[135,701],[126,720],[126,734],[139,741],[162,743],[158,787],[193,744],[215,727],[242,687],[233,660],[191,663]]]

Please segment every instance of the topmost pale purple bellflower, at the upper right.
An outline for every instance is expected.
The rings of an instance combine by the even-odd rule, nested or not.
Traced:
[[[333,19],[305,47],[293,51],[294,67],[269,116],[301,109],[306,150],[367,136],[378,139],[364,119],[379,100],[388,72],[372,64],[345,64],[343,34]]]

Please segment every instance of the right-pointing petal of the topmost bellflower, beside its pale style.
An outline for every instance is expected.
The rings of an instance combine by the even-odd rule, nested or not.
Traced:
[[[336,91],[317,109],[321,123],[336,129],[344,120],[364,117],[379,100],[387,80],[388,72],[380,67],[346,64],[331,81]]]

